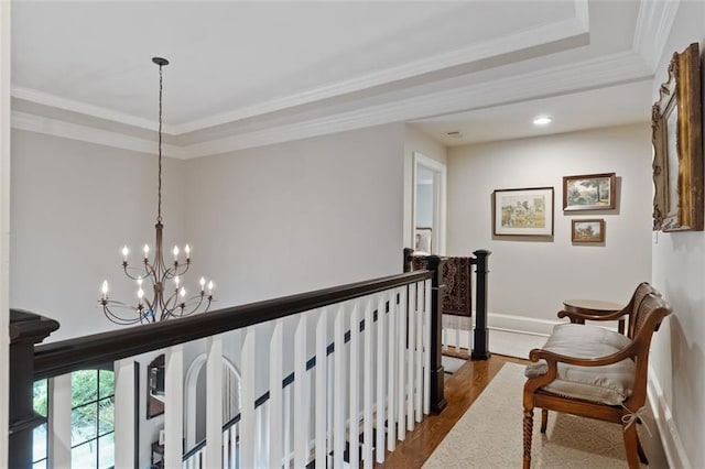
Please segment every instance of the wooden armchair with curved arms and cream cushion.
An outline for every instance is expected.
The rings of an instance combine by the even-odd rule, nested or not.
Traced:
[[[593,325],[561,324],[543,348],[530,352],[523,392],[524,469],[531,467],[534,407],[542,410],[541,433],[546,430],[549,410],[620,424],[629,467],[638,468],[640,459],[648,463],[634,423],[647,399],[651,337],[669,314],[671,307],[659,292],[642,283],[620,312],[582,317],[627,316],[627,336]]]

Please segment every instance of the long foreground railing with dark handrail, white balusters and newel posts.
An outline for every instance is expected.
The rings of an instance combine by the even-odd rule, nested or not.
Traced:
[[[163,463],[181,467],[184,345],[197,339],[206,339],[208,355],[206,441],[187,452],[185,467],[382,462],[424,414],[445,407],[437,275],[443,262],[432,257],[430,270],[37,347],[57,323],[11,312],[9,466],[32,466],[32,429],[43,423],[32,410],[33,381],[111,362],[115,466],[140,463],[138,445],[151,441],[134,435],[134,357],[165,349]],[[216,393],[223,388],[224,342],[234,337],[241,411],[223,422]]]

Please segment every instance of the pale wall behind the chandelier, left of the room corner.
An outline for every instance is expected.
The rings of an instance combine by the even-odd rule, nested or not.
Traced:
[[[58,320],[46,341],[120,327],[98,305],[100,284],[113,299],[137,299],[120,250],[127,243],[139,262],[141,247],[154,247],[156,167],[155,155],[12,131],[10,306]],[[186,243],[184,170],[165,159],[167,247]]]

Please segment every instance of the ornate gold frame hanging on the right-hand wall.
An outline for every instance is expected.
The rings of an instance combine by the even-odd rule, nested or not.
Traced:
[[[674,53],[651,108],[653,229],[703,230],[703,130],[697,43]]]

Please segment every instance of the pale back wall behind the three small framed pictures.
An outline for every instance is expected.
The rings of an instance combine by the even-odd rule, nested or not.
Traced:
[[[563,212],[563,176],[611,172],[617,174],[615,210]],[[492,192],[522,187],[554,187],[553,238],[492,237]],[[572,244],[574,218],[604,218],[604,246]],[[550,324],[540,320],[557,319],[565,298],[626,303],[651,276],[650,229],[647,123],[449,150],[447,252],[492,252],[490,326],[547,332]],[[500,324],[497,314],[513,317]]]

